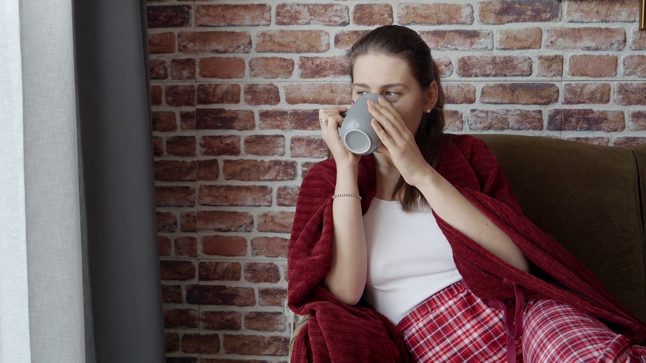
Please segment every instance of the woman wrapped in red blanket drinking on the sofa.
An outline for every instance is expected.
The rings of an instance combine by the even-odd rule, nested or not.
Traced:
[[[483,141],[443,134],[421,37],[382,26],[348,56],[353,100],[391,103],[369,101],[373,156],[342,145],[344,107],[319,111],[333,158],[298,196],[289,306],[311,315],[293,361],[646,362],[646,326],[523,216]]]

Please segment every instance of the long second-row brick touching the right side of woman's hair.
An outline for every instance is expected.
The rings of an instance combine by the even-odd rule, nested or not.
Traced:
[[[437,50],[492,50],[494,36],[491,30],[430,30],[419,35],[431,49]]]

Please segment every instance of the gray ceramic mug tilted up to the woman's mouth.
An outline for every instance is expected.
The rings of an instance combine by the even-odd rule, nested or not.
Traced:
[[[374,117],[368,112],[367,102],[368,99],[371,99],[379,103],[379,98],[390,103],[388,98],[380,94],[366,93],[357,98],[357,101],[347,112],[341,112],[344,119],[339,128],[339,136],[341,136],[343,145],[346,145],[346,148],[354,154],[372,154],[381,145],[381,140],[370,123]]]

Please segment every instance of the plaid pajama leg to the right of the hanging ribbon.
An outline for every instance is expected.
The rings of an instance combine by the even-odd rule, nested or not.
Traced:
[[[523,354],[525,362],[646,363],[646,347],[556,300],[526,309]]]

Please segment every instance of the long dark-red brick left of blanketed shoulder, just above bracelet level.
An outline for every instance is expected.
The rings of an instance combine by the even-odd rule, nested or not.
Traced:
[[[296,162],[291,160],[225,160],[225,180],[292,180]]]

